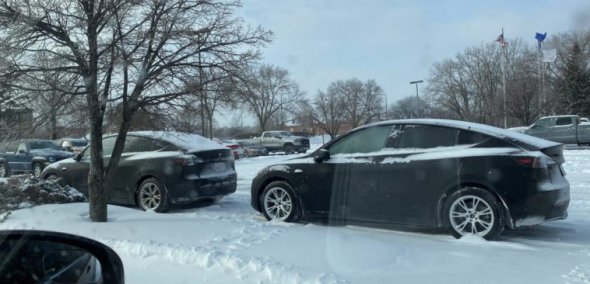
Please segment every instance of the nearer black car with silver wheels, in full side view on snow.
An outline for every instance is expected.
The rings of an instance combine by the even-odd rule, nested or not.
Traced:
[[[447,228],[498,237],[505,227],[567,217],[559,143],[454,120],[357,128],[311,155],[261,170],[251,205],[268,220],[301,217]]]

